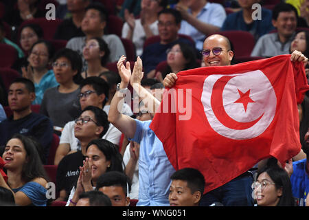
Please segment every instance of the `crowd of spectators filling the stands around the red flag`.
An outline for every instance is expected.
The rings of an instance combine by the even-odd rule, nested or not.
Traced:
[[[247,61],[294,54],[309,78],[309,1],[51,2],[52,21],[48,1],[0,3],[0,206],[308,206],[308,92],[297,106],[302,148],[286,168],[271,158],[205,195],[207,177],[175,170],[149,126],[155,90],[178,72],[242,57],[229,32],[251,34]],[[54,199],[45,165],[56,168]]]

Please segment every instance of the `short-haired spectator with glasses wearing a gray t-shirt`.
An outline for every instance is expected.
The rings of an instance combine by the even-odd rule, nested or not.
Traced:
[[[59,85],[45,91],[40,112],[49,117],[54,126],[63,128],[80,113],[76,97],[80,94],[78,84],[81,78],[82,58],[77,52],[63,48],[56,52],[52,66]]]

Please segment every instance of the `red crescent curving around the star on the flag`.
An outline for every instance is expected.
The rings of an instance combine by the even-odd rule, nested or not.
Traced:
[[[235,76],[222,76],[219,78],[216,83],[214,83],[214,87],[212,89],[210,103],[212,111],[214,112],[214,115],[216,115],[216,118],[218,118],[219,122],[221,124],[227,126],[229,129],[233,130],[244,130],[249,129],[251,126],[256,124],[264,115],[260,116],[260,118],[253,120],[252,122],[238,122],[236,120],[233,120],[227,112],[225,111],[225,108],[223,107],[223,89],[225,89],[225,85],[229,82],[231,78]]]

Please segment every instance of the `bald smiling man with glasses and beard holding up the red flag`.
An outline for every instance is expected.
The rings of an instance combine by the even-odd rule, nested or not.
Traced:
[[[234,55],[229,39],[220,34],[213,34],[205,39],[201,54],[203,55],[205,67],[231,65]],[[308,58],[301,52],[295,51],[291,55],[291,61],[306,62]],[[163,85],[168,88],[173,87],[176,80],[176,74],[170,73],[165,76]],[[252,181],[253,175],[251,170],[248,170],[227,182],[227,184],[205,193],[200,206],[210,206],[214,202],[220,202],[224,206],[253,206],[253,198],[251,197]]]

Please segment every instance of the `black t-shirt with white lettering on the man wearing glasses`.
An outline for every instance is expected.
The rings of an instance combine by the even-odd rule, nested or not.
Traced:
[[[70,195],[71,189],[76,185],[80,175],[80,166],[86,157],[82,155],[82,151],[71,153],[63,157],[58,164],[56,177],[56,191],[65,190],[67,198]],[[67,200],[67,198],[65,200]]]

